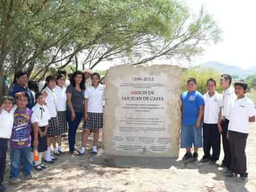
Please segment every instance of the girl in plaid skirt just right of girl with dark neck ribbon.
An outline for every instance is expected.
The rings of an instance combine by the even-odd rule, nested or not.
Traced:
[[[42,89],[42,93],[45,96],[46,106],[50,113],[49,128],[47,130],[47,155],[45,155],[45,162],[53,163],[52,161],[57,160],[57,158],[50,155],[50,147],[53,145],[54,154],[59,155],[58,148],[56,146],[55,137],[60,135],[60,129],[58,127],[58,117],[57,117],[57,96],[54,91],[55,88],[55,78],[50,75],[47,76],[45,80],[45,86]],[[50,157],[50,158],[48,158]]]

